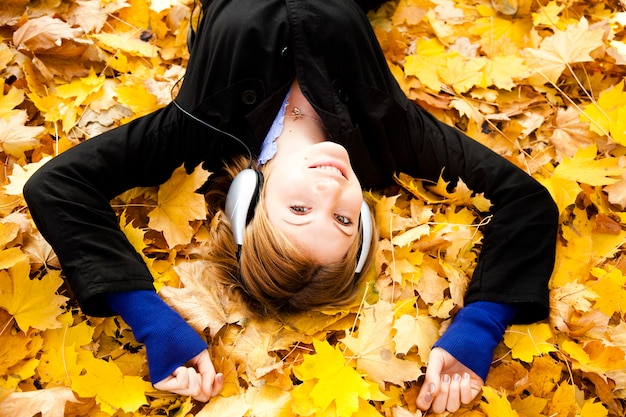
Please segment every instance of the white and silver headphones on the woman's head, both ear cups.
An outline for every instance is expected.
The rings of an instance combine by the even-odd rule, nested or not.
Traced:
[[[243,234],[247,224],[254,215],[254,209],[259,200],[259,193],[263,185],[263,174],[248,168],[241,171],[233,179],[226,195],[226,217],[230,220],[235,243],[243,245]],[[372,217],[370,208],[365,201],[361,204],[359,229],[361,230],[361,248],[356,264],[356,274],[360,274],[365,266],[372,242]]]

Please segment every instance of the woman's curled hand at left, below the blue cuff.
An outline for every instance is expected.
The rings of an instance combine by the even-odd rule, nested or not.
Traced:
[[[222,391],[224,375],[216,374],[208,350],[191,358],[172,375],[154,384],[161,391],[191,396],[196,401],[207,402]]]

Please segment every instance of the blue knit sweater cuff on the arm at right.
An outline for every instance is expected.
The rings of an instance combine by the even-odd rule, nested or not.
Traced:
[[[468,304],[459,310],[434,347],[450,353],[484,381],[491,368],[493,350],[502,340],[515,311],[513,304],[491,301]]]

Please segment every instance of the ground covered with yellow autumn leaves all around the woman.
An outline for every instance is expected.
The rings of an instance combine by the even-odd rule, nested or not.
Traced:
[[[212,219],[177,171],[113,201],[160,294],[211,342],[222,394],[157,392],[119,318],[84,316],[21,195],[42,163],[171,100],[191,0],[0,4],[0,415],[419,416],[432,343],[463,304],[488,205],[398,176],[353,308],[252,318],[211,283]],[[541,181],[561,218],[550,319],[507,329],[457,416],[623,416],[626,13],[609,1],[395,0],[370,14],[412,99]],[[428,413],[430,415],[430,413]]]

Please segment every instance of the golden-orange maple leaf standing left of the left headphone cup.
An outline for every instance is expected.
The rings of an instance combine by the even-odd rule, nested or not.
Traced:
[[[157,207],[148,213],[148,226],[162,231],[170,247],[189,243],[193,236],[189,222],[206,219],[204,196],[196,190],[208,177],[209,173],[201,166],[197,166],[190,175],[181,166],[159,187]]]

